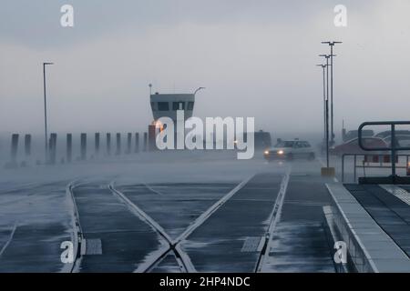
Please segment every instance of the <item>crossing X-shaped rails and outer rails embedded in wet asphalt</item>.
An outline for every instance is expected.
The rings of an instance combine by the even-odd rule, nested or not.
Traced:
[[[192,262],[190,261],[190,256],[188,256],[188,254],[184,250],[182,250],[180,247],[181,242],[186,240],[188,236],[190,236],[190,234],[192,234],[197,228],[203,225],[214,212],[216,212],[218,209],[220,209],[221,206],[223,206],[227,201],[229,201],[231,197],[234,196],[243,186],[248,184],[248,182],[251,180],[252,177],[253,176],[246,178],[239,185],[235,186],[228,194],[221,197],[216,203],[214,203],[205,212],[203,212],[199,217],[197,217],[197,219],[192,224],[190,224],[190,226],[188,226],[181,235],[179,235],[175,239],[172,239],[167,234],[167,232],[164,230],[164,228],[162,226],[159,226],[159,223],[157,223],[151,216],[149,216],[145,211],[143,211],[134,202],[129,200],[126,195],[124,195],[118,189],[116,189],[114,182],[111,182],[108,185],[108,189],[111,191],[111,193],[117,196],[120,201],[122,201],[126,206],[128,206],[128,209],[130,212],[132,212],[135,216],[138,216],[138,218],[140,218],[142,221],[148,224],[159,235],[159,237],[161,237],[161,239],[165,242],[164,244],[165,247],[163,247],[162,249],[159,249],[158,252],[155,252],[154,254],[149,256],[149,259],[146,261],[146,263],[139,265],[137,270],[135,270],[135,272],[149,273],[153,271],[157,266],[159,266],[159,264],[167,256],[174,256],[176,262],[178,263],[179,270],[181,272],[195,273],[196,269],[192,265]],[[255,266],[255,272],[261,272],[265,258],[269,256],[269,251],[271,249],[271,244],[272,244],[272,233],[279,220],[279,217],[281,216],[283,200],[284,200],[284,196],[286,193],[288,183],[289,183],[289,174],[286,174],[282,178],[280,192],[278,196],[276,197],[275,204],[272,209],[272,213],[269,217],[269,221],[270,221],[269,227],[265,234],[265,240],[263,243],[263,247],[261,249],[261,254]],[[73,209],[72,225],[73,225],[74,231],[72,235],[72,241],[74,243],[75,260],[72,264],[67,264],[67,266],[65,266],[62,272],[76,273],[79,271],[79,266],[81,265],[81,259],[82,259],[81,243],[84,241],[84,236],[83,236],[83,230],[82,230],[80,220],[79,220],[79,213],[77,209],[76,198],[73,193],[73,189],[79,185],[82,185],[82,184],[78,184],[75,181],[75,182],[70,183],[66,189],[67,196],[70,197],[70,201],[72,203],[72,209]]]

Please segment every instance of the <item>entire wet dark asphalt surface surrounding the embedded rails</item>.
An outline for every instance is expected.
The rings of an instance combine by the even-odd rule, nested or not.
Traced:
[[[322,211],[322,206],[329,203],[324,188],[324,182],[328,181],[323,181],[319,176],[318,163],[299,164],[295,161],[291,164],[292,173],[284,196],[282,216],[272,233],[272,249],[262,271],[333,272]],[[270,171],[270,168],[273,170]],[[300,172],[305,173],[306,168],[315,174],[300,175]],[[255,270],[261,255],[261,243],[270,225],[272,208],[277,202],[287,169],[286,165],[267,165],[265,170],[256,174],[181,241],[181,249],[190,257],[197,271]],[[241,182],[221,180],[206,183],[118,184],[116,188],[175,239]],[[102,246],[100,255],[82,256],[77,264],[79,272],[133,272],[168,247],[143,217],[133,213],[124,201],[108,189],[109,182],[85,183],[73,190],[83,235],[88,240],[99,239]],[[11,240],[15,220],[2,222],[0,249],[6,247],[0,256],[1,272],[57,272],[62,269],[59,246],[70,238],[72,231],[66,186],[67,181],[33,188],[27,195],[20,193],[17,196],[14,192],[2,194],[0,208],[15,209],[13,207],[18,203],[37,203],[36,206],[43,203],[47,211],[53,211],[43,216],[36,207],[34,216],[42,217],[41,223],[37,224],[36,220],[26,224],[19,222]],[[32,200],[34,197],[38,200]],[[34,249],[39,252],[33,252]],[[42,262],[41,267],[36,266],[38,261]],[[175,257],[169,253],[151,271],[180,272],[180,268]]]

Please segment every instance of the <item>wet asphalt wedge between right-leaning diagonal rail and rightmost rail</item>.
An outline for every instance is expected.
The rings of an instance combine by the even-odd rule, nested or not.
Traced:
[[[183,249],[199,272],[253,272],[269,227],[282,175],[254,176],[185,242]],[[251,244],[253,242],[253,244]],[[245,248],[245,244],[253,247]]]

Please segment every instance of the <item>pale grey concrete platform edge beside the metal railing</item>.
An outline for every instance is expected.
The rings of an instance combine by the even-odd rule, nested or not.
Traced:
[[[410,259],[340,183],[326,184],[338,228],[358,272],[410,272]],[[359,226],[360,225],[360,226]],[[371,246],[373,245],[373,246]],[[389,254],[388,258],[383,254]]]

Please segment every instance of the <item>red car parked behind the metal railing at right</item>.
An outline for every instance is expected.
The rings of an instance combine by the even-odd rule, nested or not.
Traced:
[[[387,143],[379,137],[363,137],[364,146],[369,148],[385,148],[388,147]],[[334,156],[342,156],[343,154],[370,154],[368,151],[364,151],[359,146],[359,139],[354,138],[342,145],[334,146],[330,148],[329,153]]]

